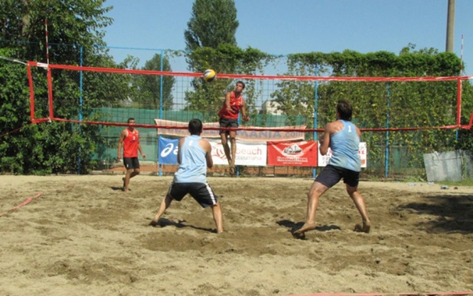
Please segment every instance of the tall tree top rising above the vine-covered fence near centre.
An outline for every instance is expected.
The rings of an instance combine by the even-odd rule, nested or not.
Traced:
[[[186,49],[217,48],[221,43],[236,45],[238,28],[234,0],[196,0],[184,31]]]

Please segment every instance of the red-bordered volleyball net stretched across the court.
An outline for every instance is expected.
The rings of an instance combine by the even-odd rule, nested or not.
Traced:
[[[217,119],[225,93],[237,80],[246,83],[244,97],[253,117],[242,122],[241,130],[305,125],[304,132],[321,131],[317,125],[333,120],[331,109],[339,99],[353,103],[355,121],[363,131],[469,129],[472,121],[471,116],[464,116],[470,120],[462,122],[462,82],[473,76],[217,74],[218,81],[208,83],[201,73],[36,62],[29,62],[27,68],[34,123],[56,120],[126,126],[125,117],[135,116],[137,127],[180,128],[172,121]],[[422,109],[425,112],[419,112]],[[117,116],[120,110],[125,117]]]

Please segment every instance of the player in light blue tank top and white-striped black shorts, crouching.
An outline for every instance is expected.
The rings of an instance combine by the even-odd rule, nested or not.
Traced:
[[[159,218],[169,208],[172,200],[181,201],[189,193],[203,207],[211,207],[216,232],[223,232],[222,209],[217,196],[207,184],[207,168],[212,168],[212,147],[207,140],[201,138],[202,121],[189,121],[190,136],[181,138],[177,146],[177,162],[179,167],[169,187],[166,197],[161,201],[156,216],[150,225],[158,224]]]

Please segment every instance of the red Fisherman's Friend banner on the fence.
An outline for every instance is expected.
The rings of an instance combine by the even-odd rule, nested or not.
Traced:
[[[317,142],[268,142],[268,165],[317,166]]]

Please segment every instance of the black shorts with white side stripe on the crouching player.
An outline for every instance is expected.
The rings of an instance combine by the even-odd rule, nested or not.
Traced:
[[[174,183],[169,186],[168,194],[177,201],[181,201],[189,193],[203,207],[213,206],[218,196],[213,193],[208,183]]]

